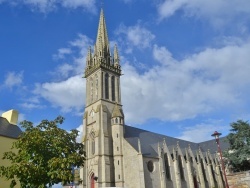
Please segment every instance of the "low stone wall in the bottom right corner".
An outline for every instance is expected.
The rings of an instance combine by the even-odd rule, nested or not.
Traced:
[[[227,180],[230,188],[250,188],[250,171],[228,174]]]

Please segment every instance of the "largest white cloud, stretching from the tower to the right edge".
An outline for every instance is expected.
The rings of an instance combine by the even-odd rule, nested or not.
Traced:
[[[160,62],[158,66],[143,74],[129,63],[123,66],[126,120],[143,123],[147,117],[176,121],[221,109],[244,108],[250,94],[249,51],[247,41],[207,48],[177,61],[165,47],[155,46],[153,55]]]

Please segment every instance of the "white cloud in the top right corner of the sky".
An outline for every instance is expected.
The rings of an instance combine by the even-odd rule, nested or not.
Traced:
[[[242,23],[250,18],[248,0],[164,0],[158,6],[160,19],[168,18],[178,10],[183,10],[187,16],[206,18],[215,26],[222,26],[238,18]]]

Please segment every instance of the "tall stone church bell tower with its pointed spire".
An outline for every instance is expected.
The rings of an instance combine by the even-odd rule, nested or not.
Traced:
[[[83,143],[86,161],[83,187],[123,186],[122,139],[124,115],[120,89],[121,66],[117,46],[110,52],[103,9],[96,43],[86,58],[86,106]]]

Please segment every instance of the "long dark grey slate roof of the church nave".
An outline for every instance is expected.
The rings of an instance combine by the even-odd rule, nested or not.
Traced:
[[[170,152],[173,151],[173,147],[177,146],[177,143],[179,143],[182,152],[184,152],[185,148],[188,148],[189,145],[193,151],[198,150],[199,148],[202,152],[206,152],[208,151],[208,149],[210,149],[211,153],[215,153],[217,151],[217,145],[214,139],[206,142],[194,143],[162,134],[153,133],[143,129],[130,127],[127,125],[124,126],[124,132],[124,138],[136,151],[139,151],[138,139],[140,139],[141,152],[145,157],[157,157],[158,143],[160,144],[160,146],[162,146],[164,139]],[[225,142],[225,140],[226,137],[220,138],[220,145],[222,150],[225,150],[229,147],[229,144]]]

